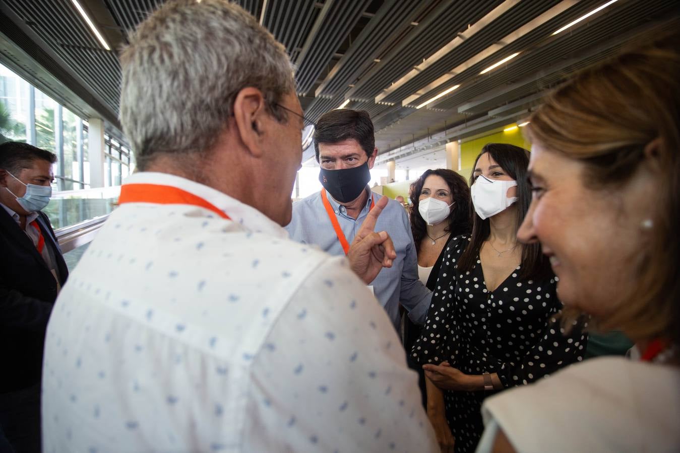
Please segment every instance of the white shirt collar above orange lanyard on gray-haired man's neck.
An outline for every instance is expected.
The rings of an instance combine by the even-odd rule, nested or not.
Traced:
[[[245,230],[255,233],[266,233],[278,238],[288,238],[288,232],[281,225],[248,204],[242,203],[223,192],[207,185],[191,181],[169,173],[139,172],[127,177],[123,185],[158,184],[170,185],[186,190],[214,204],[226,213],[233,221],[240,223]]]

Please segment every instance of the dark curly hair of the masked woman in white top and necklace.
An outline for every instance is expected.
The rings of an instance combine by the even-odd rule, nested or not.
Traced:
[[[470,187],[468,187],[465,178],[458,175],[454,170],[447,170],[446,168],[437,168],[435,170],[426,170],[415,183],[411,184],[411,232],[413,233],[413,242],[415,242],[416,253],[420,252],[420,241],[426,234],[426,223],[423,220],[418,205],[420,201],[420,192],[423,189],[425,180],[430,175],[437,175],[446,181],[449,186],[453,202],[451,213],[447,219],[449,225],[445,228],[445,232],[451,234],[466,234],[470,232]]]

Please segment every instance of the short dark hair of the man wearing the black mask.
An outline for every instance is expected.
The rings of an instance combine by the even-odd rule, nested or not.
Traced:
[[[338,143],[354,139],[367,156],[373,155],[373,122],[365,110],[337,109],[324,113],[316,122],[314,151],[319,162],[319,143]]]

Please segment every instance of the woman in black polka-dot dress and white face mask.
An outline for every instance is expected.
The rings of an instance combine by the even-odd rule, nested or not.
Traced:
[[[503,143],[477,156],[472,233],[447,244],[422,335],[411,348],[409,359],[428,378],[428,416],[444,452],[475,450],[486,396],[583,357],[581,326],[566,335],[555,322],[562,304],[539,244],[517,242],[531,201],[528,163],[528,151]]]

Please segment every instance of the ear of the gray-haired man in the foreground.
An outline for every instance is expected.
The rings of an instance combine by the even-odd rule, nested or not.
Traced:
[[[262,133],[265,130],[267,106],[265,96],[254,87],[239,91],[234,100],[234,120],[241,141],[252,156],[262,156]]]

